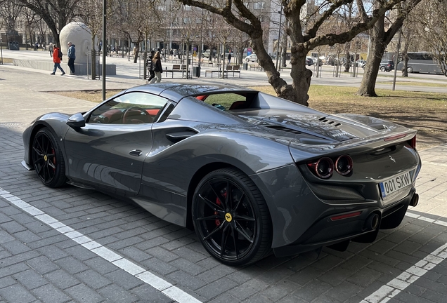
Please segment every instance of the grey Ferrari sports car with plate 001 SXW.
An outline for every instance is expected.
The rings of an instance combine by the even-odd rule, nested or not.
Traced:
[[[416,131],[238,86],[138,86],[23,133],[23,166],[194,228],[230,265],[370,243],[416,206]]]

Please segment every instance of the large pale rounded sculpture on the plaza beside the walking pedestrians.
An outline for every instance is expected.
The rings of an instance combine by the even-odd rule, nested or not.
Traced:
[[[74,44],[76,49],[76,60],[74,63],[87,63],[87,51],[91,52],[91,31],[89,27],[82,22],[70,22],[59,33],[60,50],[67,58],[67,43]],[[67,60],[68,58],[65,59]],[[66,61],[66,62],[67,62]]]

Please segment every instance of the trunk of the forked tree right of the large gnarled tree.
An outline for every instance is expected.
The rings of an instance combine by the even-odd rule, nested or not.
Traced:
[[[377,20],[377,23],[370,30],[371,46],[370,53],[366,59],[365,72],[363,73],[362,82],[357,90],[357,95],[377,97],[375,93],[375,82],[377,74],[379,74],[380,61],[382,55],[387,48],[384,43],[384,17]]]

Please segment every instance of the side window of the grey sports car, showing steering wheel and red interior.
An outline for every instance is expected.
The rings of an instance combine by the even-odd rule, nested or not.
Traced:
[[[96,108],[87,123],[138,124],[152,123],[167,99],[150,93],[126,93]]]

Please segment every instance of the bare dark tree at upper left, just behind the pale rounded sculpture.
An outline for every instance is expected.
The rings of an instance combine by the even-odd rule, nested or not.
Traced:
[[[54,41],[60,45],[60,30],[70,23],[77,14],[81,0],[17,0],[22,6],[37,13],[53,33]]]

